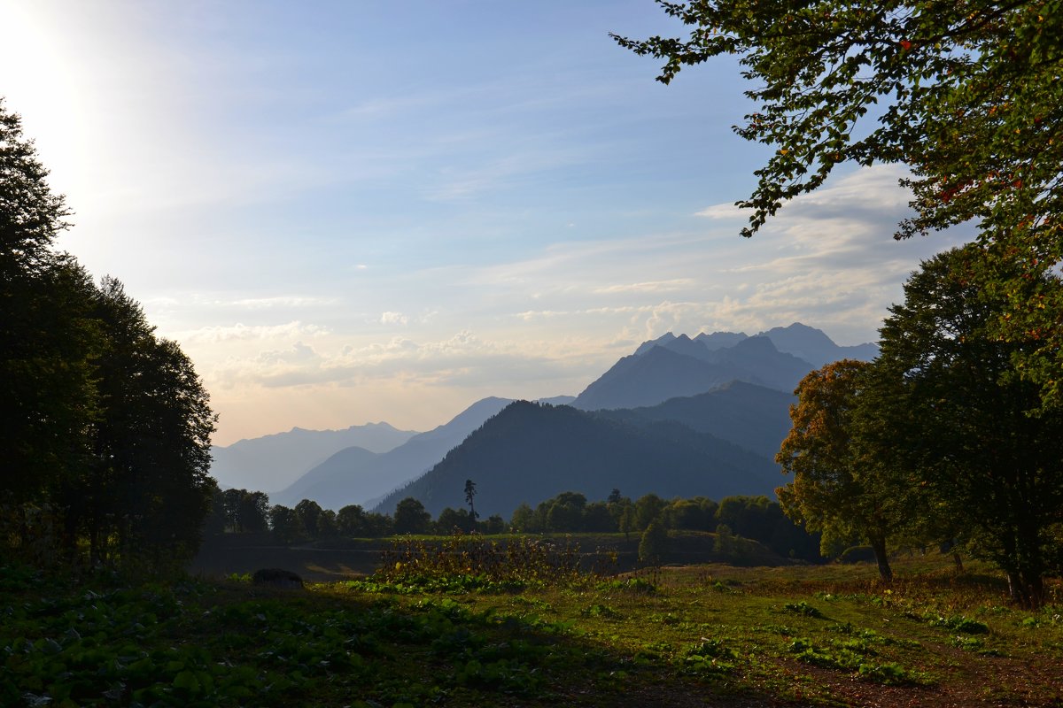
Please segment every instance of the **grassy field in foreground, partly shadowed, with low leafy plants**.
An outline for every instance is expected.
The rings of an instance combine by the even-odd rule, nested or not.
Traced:
[[[1063,706],[1058,581],[1031,612],[937,554],[885,587],[865,565],[434,553],[303,590],[2,568],[0,705]]]

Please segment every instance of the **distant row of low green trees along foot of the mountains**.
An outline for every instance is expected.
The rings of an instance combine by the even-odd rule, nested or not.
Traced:
[[[668,531],[716,532],[759,541],[783,557],[813,563],[820,555],[820,535],[809,534],[767,497],[725,497],[720,502],[704,497],[664,500],[645,495],[632,501],[613,490],[606,501],[564,491],[535,508],[522,504],[507,522],[500,515],[474,518],[475,510],[446,507],[436,519],[424,505],[407,497],[394,514],[367,512],[357,504],[338,512],[304,499],[294,507],[270,505],[261,491],[216,491],[207,533],[265,533],[282,543],[337,538],[382,538],[402,534],[450,535],[455,532],[504,533],[624,533],[636,538],[651,525]]]

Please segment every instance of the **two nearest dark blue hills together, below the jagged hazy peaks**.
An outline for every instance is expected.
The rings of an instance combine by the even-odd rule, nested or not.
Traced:
[[[405,497],[420,500],[433,515],[463,506],[468,479],[476,483],[477,511],[504,518],[522,502],[535,505],[561,491],[588,499],[605,499],[613,488],[631,498],[772,495],[783,480],[771,457],[789,430],[792,400],[732,383],[636,410],[588,412],[518,401],[431,471],[385,497],[377,511],[393,512]],[[716,425],[731,415],[732,421]]]

